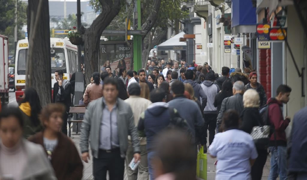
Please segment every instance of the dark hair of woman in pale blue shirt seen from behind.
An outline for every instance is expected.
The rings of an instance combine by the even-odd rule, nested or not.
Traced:
[[[226,131],[229,128],[238,128],[239,120],[239,113],[234,109],[228,109],[226,112],[224,112],[222,118],[223,130]]]

